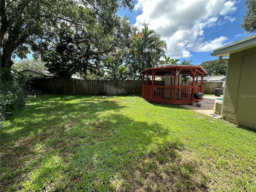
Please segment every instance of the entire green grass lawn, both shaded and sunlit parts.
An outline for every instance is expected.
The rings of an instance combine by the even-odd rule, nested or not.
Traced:
[[[139,96],[30,98],[1,125],[1,191],[256,191],[256,132]]]

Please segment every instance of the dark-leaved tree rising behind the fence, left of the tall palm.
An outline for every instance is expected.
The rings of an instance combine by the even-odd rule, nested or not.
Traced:
[[[118,53],[121,50],[127,52],[131,36],[130,22],[127,17],[120,16],[115,16],[113,20],[116,24],[107,33],[97,23],[90,27],[94,31],[91,33],[84,26],[74,28],[62,22],[56,35],[38,43],[35,49],[54,76],[70,78],[79,72],[86,78],[88,72],[101,67],[106,56],[115,55],[117,50]]]

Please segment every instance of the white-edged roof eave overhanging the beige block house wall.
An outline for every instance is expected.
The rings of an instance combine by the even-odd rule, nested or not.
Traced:
[[[213,50],[211,56],[223,56],[229,57],[230,54],[246,50],[249,48],[256,47],[256,34],[246,37],[244,39],[238,40],[216,50]]]

